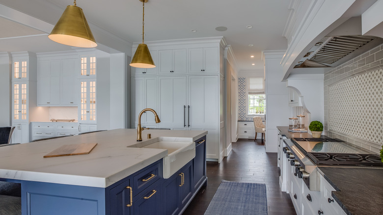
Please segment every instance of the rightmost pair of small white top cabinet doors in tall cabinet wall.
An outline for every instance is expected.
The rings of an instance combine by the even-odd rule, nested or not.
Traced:
[[[218,47],[189,49],[189,73],[218,73]]]

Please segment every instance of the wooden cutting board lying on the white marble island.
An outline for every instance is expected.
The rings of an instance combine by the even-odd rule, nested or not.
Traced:
[[[81,143],[81,144],[70,144],[63,145],[53,150],[52,152],[44,155],[44,158],[70,156],[70,155],[85,155],[89,154],[90,151],[97,145],[97,143]]]

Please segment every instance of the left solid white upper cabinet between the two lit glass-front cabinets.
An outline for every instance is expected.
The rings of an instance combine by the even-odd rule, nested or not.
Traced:
[[[38,105],[60,104],[60,60],[38,62]]]

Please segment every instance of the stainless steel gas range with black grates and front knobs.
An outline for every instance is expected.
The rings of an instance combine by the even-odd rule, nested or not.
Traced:
[[[295,176],[301,178],[310,190],[320,189],[318,166],[353,166],[373,168],[383,166],[380,156],[350,143],[334,138],[285,139],[283,152]]]

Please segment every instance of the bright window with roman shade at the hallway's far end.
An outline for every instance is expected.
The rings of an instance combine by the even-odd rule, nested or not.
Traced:
[[[247,115],[265,114],[266,95],[263,77],[248,78],[247,81]]]

